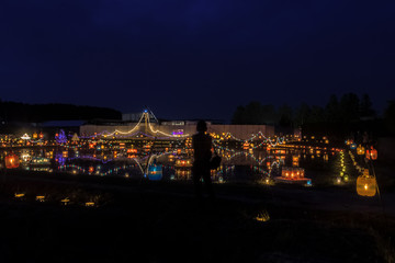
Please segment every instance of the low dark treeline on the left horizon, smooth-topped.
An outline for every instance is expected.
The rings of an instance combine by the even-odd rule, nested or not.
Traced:
[[[42,123],[47,121],[70,121],[110,118],[121,119],[119,111],[108,107],[77,106],[72,104],[25,104],[19,102],[0,101],[1,122]]]

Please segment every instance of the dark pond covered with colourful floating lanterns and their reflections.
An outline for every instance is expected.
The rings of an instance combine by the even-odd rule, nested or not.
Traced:
[[[150,152],[144,148],[32,147],[14,149],[20,159],[18,169],[67,172],[99,176],[148,178],[150,180],[191,180],[190,149],[166,149]],[[302,185],[341,184],[339,150],[326,147],[282,146],[274,148],[222,148],[222,164],[212,171],[213,182],[300,183]],[[10,151],[2,150],[4,159]],[[300,168],[300,169],[297,169]],[[287,172],[290,174],[287,174]],[[304,181],[297,182],[296,173]],[[276,180],[290,175],[290,180]],[[295,175],[295,180],[291,179]],[[346,178],[346,181],[351,178]]]

